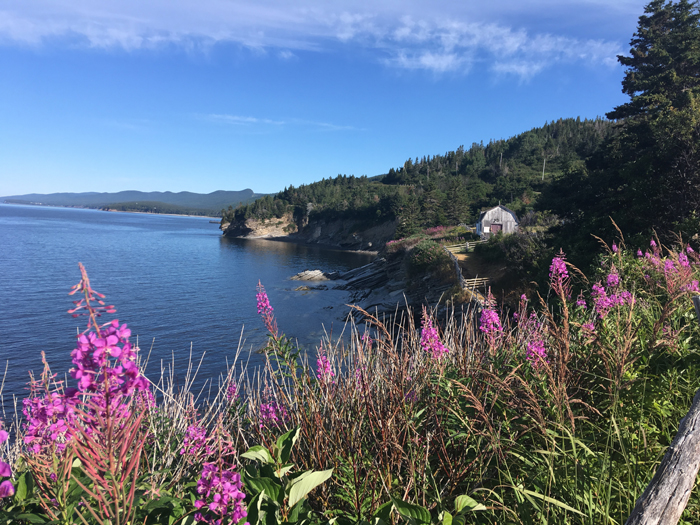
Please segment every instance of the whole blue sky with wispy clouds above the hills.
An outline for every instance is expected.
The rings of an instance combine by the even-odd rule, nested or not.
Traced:
[[[3,0],[0,195],[275,192],[626,100],[632,0]]]

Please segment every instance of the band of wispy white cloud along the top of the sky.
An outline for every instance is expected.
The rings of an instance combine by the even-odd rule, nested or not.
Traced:
[[[466,73],[476,63],[526,79],[559,63],[610,66],[629,32],[600,33],[602,21],[634,21],[637,0],[4,0],[0,43],[68,42],[124,50],[222,42],[276,50],[282,59],[332,44],[362,46],[392,67]],[[538,12],[550,19],[544,27]],[[578,35],[556,34],[584,13]],[[552,22],[554,18],[554,22]],[[561,24],[556,21],[561,19]],[[601,23],[596,23],[601,22]],[[610,24],[608,24],[609,26]],[[629,24],[628,24],[629,25]],[[588,31],[586,31],[588,30]],[[562,30],[566,31],[566,30]],[[581,34],[587,36],[582,37]],[[536,66],[535,66],[536,65]]]

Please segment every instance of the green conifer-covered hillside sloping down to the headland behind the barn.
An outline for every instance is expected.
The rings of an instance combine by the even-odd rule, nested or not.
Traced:
[[[397,235],[471,223],[484,206],[533,209],[543,187],[583,166],[613,133],[611,121],[560,119],[508,140],[460,146],[444,155],[408,159],[378,177],[339,175],[222,210],[224,222],[268,220],[293,213],[308,220],[398,219]]]

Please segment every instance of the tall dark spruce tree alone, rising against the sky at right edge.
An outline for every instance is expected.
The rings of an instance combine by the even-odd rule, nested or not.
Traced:
[[[608,199],[626,231],[679,227],[700,207],[700,12],[696,2],[654,0],[640,17],[622,91],[629,102],[606,152]],[[622,212],[624,210],[624,212]]]

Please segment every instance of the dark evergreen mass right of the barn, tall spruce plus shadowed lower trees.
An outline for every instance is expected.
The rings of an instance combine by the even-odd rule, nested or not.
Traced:
[[[696,2],[654,0],[639,18],[622,91],[607,114],[615,133],[585,165],[571,162],[540,199],[564,219],[557,243],[590,264],[597,241],[648,238],[694,222],[700,208],[700,13]],[[687,232],[687,230],[686,230]]]

